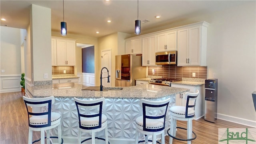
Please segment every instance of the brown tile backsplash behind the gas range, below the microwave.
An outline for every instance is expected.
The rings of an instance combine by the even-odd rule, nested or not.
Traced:
[[[154,75],[152,73],[154,69]],[[193,77],[192,73],[196,76]],[[148,67],[149,76],[162,76],[162,78],[201,78],[207,79],[207,66],[173,66],[173,65],[163,65],[163,66],[149,66]]]

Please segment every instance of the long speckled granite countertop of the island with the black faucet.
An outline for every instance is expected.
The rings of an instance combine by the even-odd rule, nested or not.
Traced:
[[[114,99],[158,99],[174,94],[188,92],[186,88],[173,88],[154,84],[122,87],[123,90],[91,91],[82,84],[66,83],[43,86],[27,86],[29,94],[34,98],[54,96],[56,98],[114,98]]]

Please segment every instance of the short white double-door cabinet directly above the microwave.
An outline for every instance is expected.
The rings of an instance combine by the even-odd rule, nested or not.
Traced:
[[[157,35],[157,51],[177,50],[177,31]]]

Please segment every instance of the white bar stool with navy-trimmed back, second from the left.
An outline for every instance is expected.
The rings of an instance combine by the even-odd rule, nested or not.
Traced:
[[[105,103],[105,98],[99,98],[96,100],[80,100],[74,98],[76,103],[76,108],[78,112],[78,122],[79,122],[79,133],[78,133],[78,143],[83,143],[87,140],[92,140],[92,144],[95,144],[95,138],[99,140],[105,140],[106,144],[108,142],[108,118],[106,115],[102,114],[102,106]],[[88,111],[92,111],[89,113]],[[96,112],[97,111],[97,112]],[[105,129],[105,139],[95,137],[95,132],[99,132]],[[92,133],[91,138],[87,138],[81,142],[81,132]]]

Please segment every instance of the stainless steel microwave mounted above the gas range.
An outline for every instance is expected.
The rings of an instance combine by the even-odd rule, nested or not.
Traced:
[[[166,65],[166,64],[177,64],[177,51],[168,52],[156,52],[156,64]]]

